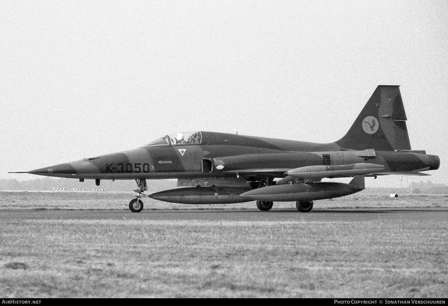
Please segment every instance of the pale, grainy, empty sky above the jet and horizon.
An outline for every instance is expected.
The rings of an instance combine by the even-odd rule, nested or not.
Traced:
[[[411,146],[446,183],[447,51],[446,0],[4,0],[0,178],[177,131],[332,142],[401,85]]]

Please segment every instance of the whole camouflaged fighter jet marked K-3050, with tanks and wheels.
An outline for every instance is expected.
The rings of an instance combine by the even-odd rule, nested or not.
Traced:
[[[148,195],[185,204],[224,204],[256,200],[268,211],[274,201],[296,201],[310,212],[313,200],[364,189],[365,176],[429,175],[439,169],[436,155],[411,150],[399,86],[379,85],[347,134],[327,144],[242,136],[219,132],[165,135],[141,148],[85,158],[25,173],[62,178],[135,179],[129,202],[143,209],[146,179],[177,178],[176,189]],[[346,183],[322,178],[353,177]]]

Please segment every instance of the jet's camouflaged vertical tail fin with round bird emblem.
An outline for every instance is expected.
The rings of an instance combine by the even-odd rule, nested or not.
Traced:
[[[343,149],[410,150],[399,87],[379,85],[349,132],[336,143]]]

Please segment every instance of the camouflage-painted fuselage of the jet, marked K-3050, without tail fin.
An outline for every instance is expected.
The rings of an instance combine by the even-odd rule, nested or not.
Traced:
[[[277,177],[303,166],[370,163],[384,166],[384,174],[435,170],[439,157],[419,151],[353,150],[337,142],[310,142],[200,132],[201,144],[148,145],[85,158],[28,173],[85,179],[160,179]],[[373,137],[374,135],[372,135]]]

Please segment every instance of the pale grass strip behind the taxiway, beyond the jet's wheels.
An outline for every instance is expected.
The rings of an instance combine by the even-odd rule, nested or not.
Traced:
[[[0,191],[2,209],[32,210],[124,210],[133,199],[133,192],[103,191]],[[254,209],[255,202],[214,205],[167,203],[142,198],[146,210],[157,209]],[[448,195],[355,195],[314,202],[314,208],[448,208]],[[273,209],[296,209],[295,202],[275,202]]]

